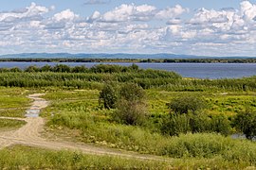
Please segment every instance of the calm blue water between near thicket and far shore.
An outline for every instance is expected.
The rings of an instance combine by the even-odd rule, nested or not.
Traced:
[[[105,64],[119,64],[128,66],[132,63],[109,63]],[[0,62],[0,67],[19,67],[26,68],[29,65],[44,66],[56,65],[57,62]],[[62,62],[69,66],[84,65],[92,67],[100,62]],[[181,76],[197,77],[197,78],[231,78],[256,75],[256,63],[136,63],[143,69],[160,69],[167,71],[174,71]]]

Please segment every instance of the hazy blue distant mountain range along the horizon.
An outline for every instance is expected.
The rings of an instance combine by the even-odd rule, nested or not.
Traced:
[[[176,55],[176,54],[70,54],[70,53],[20,53],[0,55],[2,59],[67,59],[67,58],[84,58],[84,59],[248,59],[253,57],[207,57],[207,56],[193,56],[193,55]]]

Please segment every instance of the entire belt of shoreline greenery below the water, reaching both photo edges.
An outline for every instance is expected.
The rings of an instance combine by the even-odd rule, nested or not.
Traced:
[[[136,64],[131,66],[95,65],[69,67],[58,64],[55,66],[29,66],[19,68],[1,68],[0,86],[16,87],[72,87],[101,89],[102,83],[133,82],[143,89],[161,89],[167,91],[255,91],[256,76],[237,79],[184,79],[174,72],[139,69]]]

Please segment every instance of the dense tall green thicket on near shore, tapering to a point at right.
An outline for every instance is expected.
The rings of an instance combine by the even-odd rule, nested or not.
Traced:
[[[155,85],[165,84],[168,81],[182,79],[174,72],[143,70],[136,64],[131,66],[119,65],[95,65],[91,68],[84,66],[69,67],[58,64],[55,66],[29,66],[25,70],[19,68],[1,68],[0,86],[6,87],[72,87],[72,88],[91,88],[101,89],[101,84],[106,81],[137,82],[143,88],[150,88]],[[145,82],[142,82],[145,79]],[[155,85],[151,82],[155,81]],[[164,82],[162,82],[164,81]],[[141,82],[141,83],[139,83]],[[143,85],[144,83],[144,85]],[[146,84],[145,84],[146,83]]]

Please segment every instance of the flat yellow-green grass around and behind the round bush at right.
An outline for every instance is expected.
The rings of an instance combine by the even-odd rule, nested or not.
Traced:
[[[183,94],[190,95],[197,92],[168,92],[148,90],[149,111],[153,114],[165,114],[170,110],[166,107],[176,96]],[[240,111],[256,110],[256,93],[250,92],[200,92],[197,93],[205,97],[208,103],[207,112],[211,114],[224,113],[226,115],[234,115]]]

